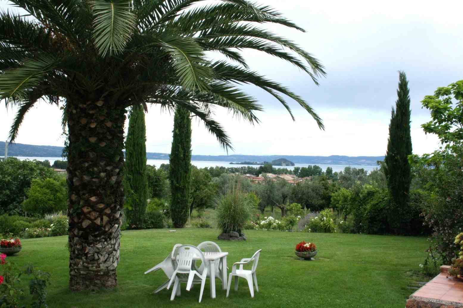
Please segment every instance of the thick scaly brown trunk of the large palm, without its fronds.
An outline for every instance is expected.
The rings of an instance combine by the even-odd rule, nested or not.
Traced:
[[[108,101],[67,102],[69,287],[117,285],[124,204],[125,109]]]

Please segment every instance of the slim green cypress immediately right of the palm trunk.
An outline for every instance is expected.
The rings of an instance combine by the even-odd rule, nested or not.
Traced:
[[[127,203],[132,211],[129,215],[131,225],[143,228],[148,199],[146,177],[146,127],[144,110],[141,105],[131,108],[129,130],[125,141],[125,182],[130,189]]]

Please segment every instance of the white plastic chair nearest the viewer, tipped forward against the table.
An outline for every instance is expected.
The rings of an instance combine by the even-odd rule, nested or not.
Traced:
[[[167,286],[167,289],[169,290],[172,282],[175,281],[174,288],[172,289],[172,294],[170,296],[170,300],[173,301],[175,295],[180,295],[180,284],[181,282],[186,282],[187,291],[191,289],[192,284],[201,284],[199,299],[199,302],[201,302],[201,298],[204,292],[204,284],[206,283],[207,266],[204,267],[202,272],[197,272],[194,269],[192,269],[192,265],[193,258],[195,256],[199,257],[203,264],[206,264],[204,254],[193,245],[181,245],[180,247],[175,249],[174,256],[176,260],[176,267]]]

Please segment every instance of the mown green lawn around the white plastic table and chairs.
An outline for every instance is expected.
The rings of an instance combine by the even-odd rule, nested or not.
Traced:
[[[18,265],[33,263],[50,272],[50,308],[56,307],[397,307],[403,308],[413,290],[409,272],[419,269],[425,259],[425,238],[369,236],[353,234],[308,234],[301,232],[247,230],[246,242],[218,241],[216,229],[167,229],[124,231],[118,283],[115,290],[74,293],[68,289],[69,254],[67,237],[48,237],[23,241],[23,250],[9,260]],[[299,260],[294,246],[306,240],[319,249],[316,260]],[[197,245],[218,242],[229,252],[228,267],[250,257],[262,248],[257,280],[259,293],[250,297],[244,280],[238,292],[221,290],[211,299],[209,282],[201,303],[199,286],[169,301],[170,290],[152,294],[166,277],[163,272],[144,275],[144,271],[164,260],[175,243]],[[414,278],[417,279],[417,278]],[[419,278],[423,279],[423,278]]]

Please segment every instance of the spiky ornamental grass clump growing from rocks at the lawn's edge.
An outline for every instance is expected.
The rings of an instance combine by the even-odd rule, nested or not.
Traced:
[[[241,232],[254,210],[253,202],[240,187],[240,181],[233,182],[231,189],[216,199],[217,226],[222,233]]]

